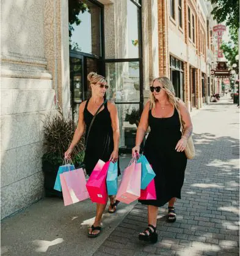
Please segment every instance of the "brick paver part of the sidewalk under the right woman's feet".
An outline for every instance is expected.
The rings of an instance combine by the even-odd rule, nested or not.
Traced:
[[[192,121],[197,156],[187,164],[176,222],[166,222],[167,205],[159,208],[158,243],[140,243],[147,207],[137,204],[95,256],[239,255],[239,109],[220,99]]]

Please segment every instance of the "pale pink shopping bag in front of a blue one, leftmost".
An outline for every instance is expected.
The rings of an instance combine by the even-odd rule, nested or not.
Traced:
[[[61,173],[60,183],[65,206],[89,198],[89,192],[87,192],[86,188],[86,179],[82,168]]]

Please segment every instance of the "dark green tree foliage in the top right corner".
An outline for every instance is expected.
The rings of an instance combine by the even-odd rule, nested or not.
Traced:
[[[229,28],[239,28],[239,0],[211,0],[214,4],[213,14],[217,23],[226,21]]]

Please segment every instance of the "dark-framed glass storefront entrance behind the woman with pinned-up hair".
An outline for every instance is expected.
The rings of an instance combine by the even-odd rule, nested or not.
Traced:
[[[95,0],[76,6],[68,0],[70,33],[70,90],[71,107],[78,121],[79,105],[90,98],[87,74],[97,72],[109,83],[106,97],[117,106],[120,123],[120,148],[135,145],[136,129],[142,113],[142,28],[141,1],[126,0],[126,22],[122,24],[125,43],[118,46],[118,58],[105,58],[104,5]],[[73,12],[73,13],[72,13]],[[115,24],[114,24],[115,26]],[[112,27],[111,27],[112,28]],[[112,31],[114,33],[114,31]],[[111,42],[112,47],[112,42]],[[122,47],[122,52],[119,50]]]

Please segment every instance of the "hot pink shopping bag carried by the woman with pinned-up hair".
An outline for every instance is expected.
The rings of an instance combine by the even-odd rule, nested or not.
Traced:
[[[107,203],[106,178],[109,164],[110,161],[105,163],[102,160],[98,160],[87,181],[86,187],[93,203]]]

